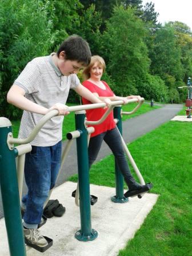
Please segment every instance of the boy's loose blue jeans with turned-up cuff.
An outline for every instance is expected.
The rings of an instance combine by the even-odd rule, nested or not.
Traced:
[[[61,166],[62,142],[54,146],[32,146],[25,158],[25,181],[28,193],[22,198],[26,206],[23,215],[24,225],[34,229],[41,223],[43,205],[49,191],[55,185]]]

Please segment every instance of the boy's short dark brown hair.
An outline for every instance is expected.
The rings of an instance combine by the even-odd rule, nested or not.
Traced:
[[[57,56],[61,51],[65,51],[66,59],[70,61],[77,61],[89,65],[91,61],[91,51],[88,43],[78,35],[71,35],[59,46]]]

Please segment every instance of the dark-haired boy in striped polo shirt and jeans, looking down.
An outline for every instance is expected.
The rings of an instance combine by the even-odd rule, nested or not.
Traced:
[[[43,205],[55,185],[61,160],[62,115],[69,114],[65,105],[70,89],[93,103],[101,101],[81,85],[79,69],[89,65],[89,45],[73,35],[59,47],[57,53],[34,58],[15,80],[7,94],[7,101],[23,109],[19,138],[26,138],[43,115],[57,109],[59,116],[51,118],[31,142],[26,154],[25,180],[28,193],[22,198],[25,206],[23,230],[25,239],[44,247],[46,239],[37,226],[41,223]]]

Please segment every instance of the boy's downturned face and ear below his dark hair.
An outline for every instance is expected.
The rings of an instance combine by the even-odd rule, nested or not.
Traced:
[[[62,51],[59,54],[58,68],[63,75],[77,74],[80,69],[82,69],[83,63],[77,61],[70,61],[70,59],[65,59],[65,52]]]

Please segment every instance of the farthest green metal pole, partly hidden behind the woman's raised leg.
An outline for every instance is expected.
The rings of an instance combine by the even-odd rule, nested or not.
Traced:
[[[118,119],[117,127],[122,134],[122,119],[121,119],[121,106],[114,107],[113,110],[114,118]],[[111,198],[111,201],[115,203],[125,203],[128,198],[124,197],[123,184],[124,179],[121,171],[118,168],[117,161],[115,161],[115,183],[116,183],[116,195]]]

